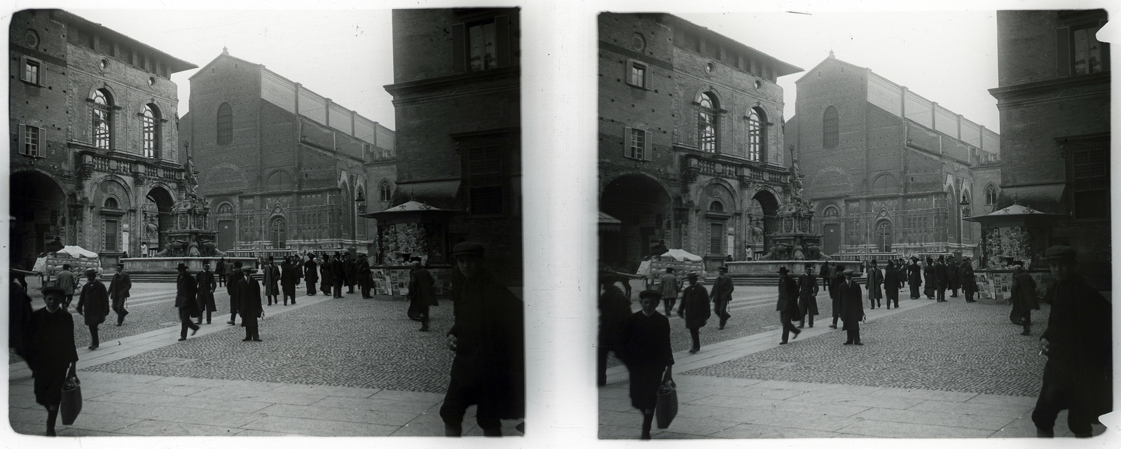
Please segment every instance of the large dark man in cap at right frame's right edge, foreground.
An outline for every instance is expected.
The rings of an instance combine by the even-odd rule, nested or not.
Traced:
[[[1113,314],[1110,302],[1077,272],[1073,247],[1051,246],[1044,256],[1055,283],[1046,296],[1051,309],[1039,349],[1047,365],[1031,421],[1037,436],[1054,437],[1058,412],[1069,409],[1071,432],[1092,437],[1091,424],[1113,410]]]

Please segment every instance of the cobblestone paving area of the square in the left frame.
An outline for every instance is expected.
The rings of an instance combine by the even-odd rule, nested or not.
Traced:
[[[404,301],[344,299],[314,303],[261,321],[263,342],[242,342],[244,328],[191,338],[89,371],[443,393],[454,354],[444,333],[451,302],[433,307],[433,331],[405,317]],[[131,315],[129,316],[132,317]]]

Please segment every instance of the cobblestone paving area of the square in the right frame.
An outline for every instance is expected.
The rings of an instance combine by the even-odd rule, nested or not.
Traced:
[[[864,346],[842,345],[836,331],[687,374],[1034,396],[1043,385],[1038,340],[1050,307],[1032,314],[1027,337],[1009,322],[1009,310],[949,298],[861,325]]]

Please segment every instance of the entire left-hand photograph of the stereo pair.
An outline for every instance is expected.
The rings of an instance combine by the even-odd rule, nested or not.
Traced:
[[[519,13],[12,9],[19,445],[524,436]]]

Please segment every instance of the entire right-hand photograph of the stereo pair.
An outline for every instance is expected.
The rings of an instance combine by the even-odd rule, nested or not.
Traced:
[[[1104,432],[1108,20],[600,13],[599,438]]]

